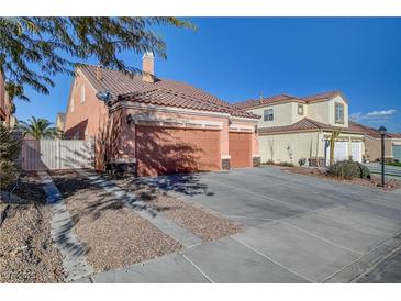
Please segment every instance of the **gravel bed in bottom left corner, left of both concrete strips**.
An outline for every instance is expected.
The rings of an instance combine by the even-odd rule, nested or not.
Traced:
[[[49,208],[0,200],[0,282],[62,282],[63,258],[51,238]]]

